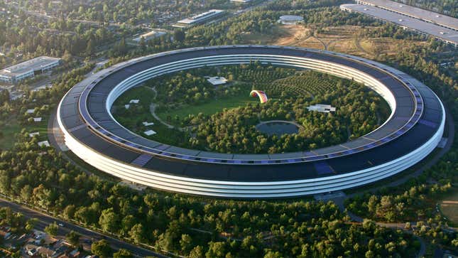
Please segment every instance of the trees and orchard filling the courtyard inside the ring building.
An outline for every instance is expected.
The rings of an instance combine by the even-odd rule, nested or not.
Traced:
[[[226,77],[229,82],[214,87],[205,80],[206,75]],[[114,103],[115,118],[138,134],[147,129],[141,123],[148,121],[148,117],[151,119],[145,115],[150,111],[151,102],[158,105],[158,112],[167,114],[176,108],[198,107],[227,96],[249,95],[253,89],[263,90],[271,98],[265,104],[249,103],[222,112],[168,116],[168,122],[190,130],[189,134],[178,130],[166,133],[166,143],[190,149],[239,154],[317,149],[368,134],[389,116],[388,104],[376,92],[356,82],[310,70],[296,71],[259,63],[187,70],[155,78],[146,85],[156,90],[158,96],[154,100],[152,92],[134,89]],[[124,104],[135,99],[141,100],[141,104],[124,109]],[[307,111],[306,107],[312,104],[332,104],[337,112]],[[269,120],[297,122],[299,132],[268,136],[256,129],[256,124]],[[158,132],[148,138],[164,139],[160,135],[164,131]]]

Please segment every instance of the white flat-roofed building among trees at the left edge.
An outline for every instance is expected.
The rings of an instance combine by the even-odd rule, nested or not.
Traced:
[[[40,56],[0,71],[0,81],[16,83],[60,65],[60,58]]]

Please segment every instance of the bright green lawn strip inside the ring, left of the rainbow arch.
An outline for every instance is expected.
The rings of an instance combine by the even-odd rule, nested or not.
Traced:
[[[187,105],[180,107],[178,109],[173,109],[168,112],[160,112],[157,113],[160,119],[163,121],[167,121],[167,117],[178,117],[183,118],[187,117],[188,114],[199,114],[202,112],[203,114],[215,114],[217,112],[221,112],[223,109],[231,109],[234,107],[244,106],[247,103],[258,103],[258,98],[250,97],[249,92],[246,92],[244,95],[239,96],[231,96],[224,99],[219,100],[211,100],[205,104],[197,104],[197,105]]]

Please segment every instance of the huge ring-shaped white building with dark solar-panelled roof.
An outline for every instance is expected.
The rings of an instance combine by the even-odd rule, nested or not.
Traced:
[[[391,114],[380,127],[351,141],[268,154],[224,154],[163,144],[126,129],[111,114],[119,96],[153,77],[252,62],[360,82],[383,97]],[[304,48],[228,45],[159,53],[97,72],[67,92],[58,122],[70,150],[119,178],[180,193],[279,198],[353,188],[413,166],[442,138],[445,112],[421,82],[371,60]]]

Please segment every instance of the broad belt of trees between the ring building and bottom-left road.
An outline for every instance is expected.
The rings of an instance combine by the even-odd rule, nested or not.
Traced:
[[[137,244],[190,257],[415,254],[410,235],[369,222],[349,223],[333,203],[137,193],[88,176],[54,149],[39,149],[33,139],[19,137],[16,149],[1,154],[2,194]]]

